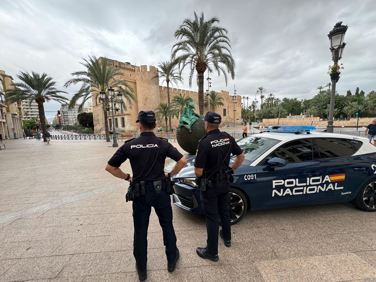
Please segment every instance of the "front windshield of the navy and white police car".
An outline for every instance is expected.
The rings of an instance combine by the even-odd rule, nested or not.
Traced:
[[[237,141],[240,149],[246,156],[247,161],[254,161],[268,149],[279,143],[280,140],[265,138],[261,136],[249,136]]]

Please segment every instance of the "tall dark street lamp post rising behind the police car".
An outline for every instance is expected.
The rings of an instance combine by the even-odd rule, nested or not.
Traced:
[[[344,37],[347,30],[347,26],[342,25],[342,21],[335,24],[334,29],[329,32],[330,50],[332,53],[332,61],[334,65],[338,65],[338,61],[342,58],[343,49],[346,43],[344,43]],[[333,114],[334,114],[334,98],[335,98],[335,84],[340,79],[339,73],[330,74],[332,80],[332,92],[330,96],[329,105],[329,117],[328,124],[326,126],[326,132],[333,133]]]

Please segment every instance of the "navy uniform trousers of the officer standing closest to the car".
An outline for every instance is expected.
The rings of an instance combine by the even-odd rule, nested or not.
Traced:
[[[206,251],[209,255],[218,254],[218,214],[221,219],[222,235],[224,240],[231,240],[231,220],[229,212],[230,184],[227,181],[218,183],[218,186],[208,187],[201,191],[200,199],[202,210],[206,217]]]

